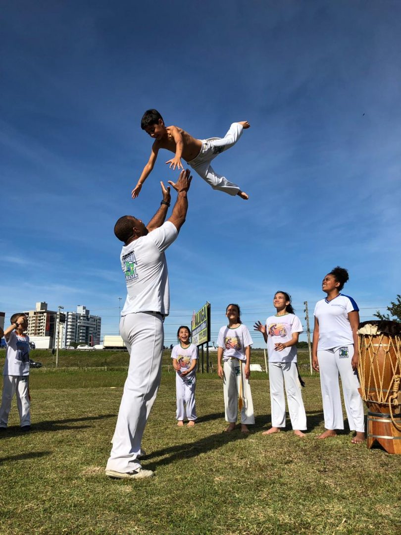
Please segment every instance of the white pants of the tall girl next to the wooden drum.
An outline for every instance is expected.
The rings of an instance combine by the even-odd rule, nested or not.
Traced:
[[[318,350],[326,429],[344,429],[340,384],[338,383],[338,373],[340,373],[350,430],[365,431],[364,404],[358,392],[357,372],[353,371],[351,366],[352,356],[353,345],[338,349]]]

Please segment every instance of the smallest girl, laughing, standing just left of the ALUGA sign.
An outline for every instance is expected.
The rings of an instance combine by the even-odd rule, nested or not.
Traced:
[[[175,387],[177,395],[177,425],[184,425],[185,417],[188,418],[188,426],[195,425],[195,387],[196,387],[196,363],[198,348],[190,342],[191,331],[186,325],[181,325],[177,332],[179,342],[173,347],[171,358],[173,359],[175,374]]]

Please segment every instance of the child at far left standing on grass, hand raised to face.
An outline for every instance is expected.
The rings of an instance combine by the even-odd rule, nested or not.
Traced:
[[[18,312],[11,316],[11,325],[4,331],[7,345],[3,369],[3,396],[0,408],[0,429],[5,429],[9,421],[11,401],[17,393],[17,407],[21,431],[30,430],[29,396],[29,337],[24,334],[28,318]]]

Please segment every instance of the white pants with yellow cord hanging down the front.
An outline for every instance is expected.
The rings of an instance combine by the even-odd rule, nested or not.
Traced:
[[[241,409],[241,423],[254,424],[253,402],[249,380],[245,378],[245,363],[242,362],[243,405]],[[240,361],[230,358],[223,362],[223,393],[226,422],[236,422],[238,418],[238,394],[240,393],[241,371]]]

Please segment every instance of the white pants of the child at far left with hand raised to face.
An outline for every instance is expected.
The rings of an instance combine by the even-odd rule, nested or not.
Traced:
[[[30,425],[29,376],[4,375],[0,427],[7,427],[14,394],[17,394],[17,408],[21,427]]]

